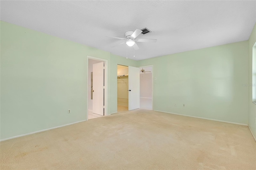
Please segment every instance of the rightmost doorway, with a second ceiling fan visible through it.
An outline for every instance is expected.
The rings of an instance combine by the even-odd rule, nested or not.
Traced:
[[[153,66],[140,67],[140,108],[153,110]]]

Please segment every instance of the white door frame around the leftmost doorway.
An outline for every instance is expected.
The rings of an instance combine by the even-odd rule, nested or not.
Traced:
[[[108,60],[102,59],[102,58],[96,58],[92,56],[87,56],[87,77],[86,77],[86,120],[88,120],[88,66],[89,66],[89,59],[92,60],[98,60],[102,61],[105,63],[105,72],[104,72],[104,84],[105,84],[105,95],[104,95],[104,104],[105,104],[105,109],[104,109],[104,116],[108,115]]]

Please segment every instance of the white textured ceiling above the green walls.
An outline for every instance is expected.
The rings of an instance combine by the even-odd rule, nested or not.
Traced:
[[[147,27],[128,58],[167,54],[248,40],[256,1],[0,1],[1,20],[126,57],[124,32]]]

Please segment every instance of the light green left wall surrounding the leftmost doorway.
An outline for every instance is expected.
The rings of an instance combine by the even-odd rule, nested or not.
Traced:
[[[136,66],[135,60],[0,24],[0,139],[86,120],[87,55],[108,60],[108,114],[116,112],[117,64]]]

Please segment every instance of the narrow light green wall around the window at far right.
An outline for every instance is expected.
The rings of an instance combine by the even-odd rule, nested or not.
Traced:
[[[248,75],[249,75],[249,81],[248,84],[252,84],[252,47],[254,46],[256,42],[256,24],[254,25],[254,28],[252,30],[252,34],[249,38],[249,69],[248,69]],[[256,104],[252,103],[252,86],[247,87],[249,90],[248,95],[248,101],[249,101],[249,116],[248,116],[248,125],[250,126],[250,129],[252,130],[252,133],[256,137],[256,124],[254,123],[254,119],[256,118]]]

